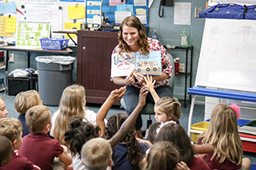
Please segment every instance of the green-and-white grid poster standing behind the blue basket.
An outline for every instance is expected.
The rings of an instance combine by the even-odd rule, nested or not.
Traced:
[[[17,46],[41,47],[41,38],[50,38],[50,23],[18,22]]]

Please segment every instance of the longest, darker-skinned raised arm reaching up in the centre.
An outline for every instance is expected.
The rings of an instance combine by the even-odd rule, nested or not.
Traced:
[[[114,148],[114,146],[117,145],[118,142],[122,140],[124,136],[126,136],[127,132],[129,132],[130,128],[132,128],[132,126],[134,125],[138,117],[138,114],[141,112],[143,106],[146,103],[147,93],[148,91],[146,87],[145,86],[142,87],[139,94],[138,105],[136,106],[134,111],[130,114],[130,116],[126,119],[126,121],[123,122],[118,132],[110,139],[110,145],[112,148]]]

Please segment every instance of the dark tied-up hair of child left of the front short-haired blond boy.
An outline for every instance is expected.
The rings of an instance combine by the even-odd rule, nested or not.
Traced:
[[[94,128],[94,125],[83,120],[83,117],[71,117],[69,128],[64,133],[64,139],[70,148],[72,156],[78,153],[80,158],[82,145],[86,141],[98,137],[98,132],[100,131],[98,126]]]

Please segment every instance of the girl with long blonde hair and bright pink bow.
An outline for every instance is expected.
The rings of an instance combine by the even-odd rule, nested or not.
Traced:
[[[238,134],[239,116],[236,113],[240,114],[237,105],[216,105],[210,115],[209,128],[199,136],[198,144],[214,146],[214,152],[202,157],[211,169],[250,169],[251,161],[242,158],[242,141]]]

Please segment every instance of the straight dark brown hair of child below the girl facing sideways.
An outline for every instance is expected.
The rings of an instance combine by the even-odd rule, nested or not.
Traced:
[[[170,141],[175,144],[178,152],[180,152],[180,161],[184,161],[186,164],[194,156],[194,149],[190,138],[187,136],[185,129],[179,124],[164,125],[155,139],[155,142],[158,141]]]

